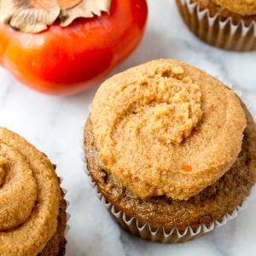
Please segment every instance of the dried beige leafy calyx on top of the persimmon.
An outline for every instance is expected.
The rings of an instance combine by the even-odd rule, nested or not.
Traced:
[[[55,20],[69,26],[78,18],[109,14],[111,0],[0,0],[0,21],[20,32],[38,33]]]

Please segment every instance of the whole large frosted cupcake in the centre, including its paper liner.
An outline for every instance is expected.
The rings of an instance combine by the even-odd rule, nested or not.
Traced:
[[[84,128],[109,212],[144,239],[187,241],[234,218],[256,180],[256,126],[207,73],[157,60],[105,81]]]

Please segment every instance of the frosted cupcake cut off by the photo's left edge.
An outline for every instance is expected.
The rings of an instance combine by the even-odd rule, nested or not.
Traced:
[[[64,255],[66,201],[55,166],[0,128],[0,255]]]

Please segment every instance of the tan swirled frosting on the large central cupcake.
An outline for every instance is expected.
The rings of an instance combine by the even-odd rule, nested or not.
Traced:
[[[108,79],[90,120],[102,166],[140,198],[187,200],[215,183],[241,150],[235,94],[181,61],[157,60]]]

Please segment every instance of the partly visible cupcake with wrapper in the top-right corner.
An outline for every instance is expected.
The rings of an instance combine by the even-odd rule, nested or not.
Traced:
[[[247,51],[256,49],[256,1],[176,0],[189,29],[207,44]]]

